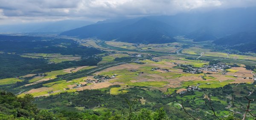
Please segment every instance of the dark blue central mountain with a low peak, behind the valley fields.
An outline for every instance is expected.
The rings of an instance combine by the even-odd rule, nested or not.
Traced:
[[[175,42],[174,36],[180,31],[166,23],[142,18],[140,20],[125,20],[87,25],[74,30],[66,31],[60,35],[78,36],[80,38],[97,37],[103,40],[122,42],[169,43]]]

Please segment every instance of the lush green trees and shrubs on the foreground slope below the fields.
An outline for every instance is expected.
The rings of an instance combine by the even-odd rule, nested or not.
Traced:
[[[9,92],[1,92],[0,116],[3,120],[9,119],[35,119],[35,120],[193,120],[183,111],[183,106],[189,114],[204,120],[215,120],[211,109],[205,105],[205,92],[211,95],[212,107],[216,115],[223,120],[239,120],[243,110],[230,106],[232,93],[234,102],[246,104],[243,99],[246,91],[255,90],[255,84],[234,84],[216,89],[202,89],[185,94],[172,93],[166,96],[158,90],[150,90],[147,87],[130,87],[125,92],[119,86],[108,87],[99,90],[84,90],[76,93],[61,93],[49,97],[35,98],[25,95],[17,98]],[[109,94],[113,90],[114,94]],[[121,92],[123,91],[123,92]],[[95,97],[98,96],[98,97]],[[255,99],[255,93],[248,98]],[[37,105],[37,108],[35,106]],[[256,103],[250,104],[251,109],[256,108]],[[195,112],[194,110],[198,111]],[[237,113],[232,114],[230,110]],[[15,112],[14,112],[15,111]],[[251,111],[255,114],[256,111]],[[204,115],[202,115],[204,114]],[[227,117],[228,116],[228,117]],[[234,119],[236,117],[236,119]],[[254,118],[248,114],[247,120]]]

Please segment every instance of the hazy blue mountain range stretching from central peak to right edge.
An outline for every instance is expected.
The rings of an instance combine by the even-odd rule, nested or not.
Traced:
[[[174,42],[174,36],[185,35],[194,41],[214,41],[236,33],[255,32],[256,8],[230,8],[205,13],[174,16],[149,16],[130,20],[105,20],[61,35],[80,38],[97,37],[122,42]]]

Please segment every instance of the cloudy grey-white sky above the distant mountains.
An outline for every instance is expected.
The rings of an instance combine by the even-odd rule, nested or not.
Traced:
[[[256,6],[256,0],[0,0],[0,25],[174,15]]]

